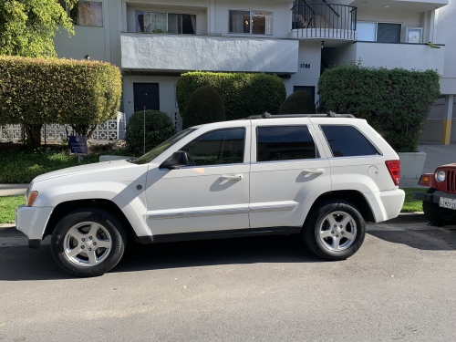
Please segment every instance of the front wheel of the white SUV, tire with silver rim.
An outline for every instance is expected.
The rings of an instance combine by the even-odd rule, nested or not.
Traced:
[[[96,228],[87,233],[90,227]],[[70,229],[71,232],[69,232]],[[96,236],[89,236],[93,235],[93,232]],[[79,240],[85,242],[82,243]],[[82,208],[69,212],[57,223],[51,238],[51,254],[56,263],[71,275],[81,277],[104,275],[119,263],[125,251],[126,241],[124,229],[113,215],[96,208]],[[98,246],[95,246],[97,242]],[[99,247],[103,244],[109,247]],[[73,250],[80,253],[69,255]],[[90,260],[87,251],[93,251],[90,254],[95,255],[95,259]],[[93,260],[97,263],[92,263]]]

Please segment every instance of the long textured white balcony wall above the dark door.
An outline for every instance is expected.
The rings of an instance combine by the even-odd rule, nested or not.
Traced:
[[[121,67],[130,71],[297,72],[296,40],[122,33]]]

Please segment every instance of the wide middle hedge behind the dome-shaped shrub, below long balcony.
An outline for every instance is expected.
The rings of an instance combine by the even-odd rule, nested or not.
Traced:
[[[282,79],[275,75],[188,72],[177,82],[176,95],[182,119],[193,91],[211,86],[223,98],[226,119],[244,119],[264,111],[278,113],[286,98]]]

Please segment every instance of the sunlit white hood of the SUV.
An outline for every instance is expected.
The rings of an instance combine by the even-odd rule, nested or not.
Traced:
[[[111,171],[116,169],[125,169],[129,167],[138,166],[136,164],[132,164],[128,161],[121,160],[121,161],[104,161],[104,162],[95,162],[93,164],[86,164],[81,166],[74,166],[72,168],[52,171],[43,173],[37,176],[33,181],[47,181],[57,177],[67,177],[72,176],[80,173],[93,173],[99,171]]]

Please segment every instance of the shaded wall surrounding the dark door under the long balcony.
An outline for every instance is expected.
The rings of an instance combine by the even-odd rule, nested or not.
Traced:
[[[133,83],[159,83],[160,110],[172,118],[174,113],[179,112],[179,109],[176,107],[175,92],[175,85],[178,79],[179,77],[168,76],[124,76],[122,105],[127,120],[130,119],[131,114],[135,111]]]

